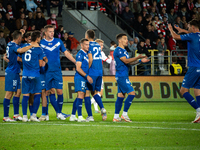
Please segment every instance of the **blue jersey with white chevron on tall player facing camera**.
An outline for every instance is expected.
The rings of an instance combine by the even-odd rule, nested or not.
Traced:
[[[63,42],[58,38],[54,38],[52,41],[47,41],[46,39],[43,39],[40,41],[40,46],[43,48],[44,53],[48,58],[47,71],[60,71],[60,51],[66,51]]]

